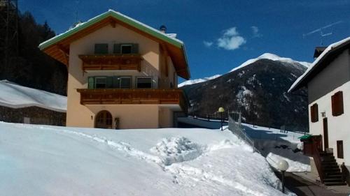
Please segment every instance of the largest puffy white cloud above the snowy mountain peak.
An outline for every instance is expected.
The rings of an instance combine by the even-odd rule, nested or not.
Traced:
[[[225,50],[236,50],[246,43],[246,39],[239,36],[236,27],[231,27],[223,32],[223,36],[218,38],[218,47]]]

